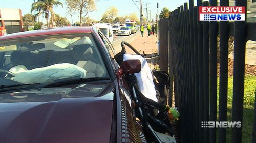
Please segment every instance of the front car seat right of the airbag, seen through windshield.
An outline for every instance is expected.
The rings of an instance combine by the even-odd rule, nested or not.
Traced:
[[[104,68],[94,58],[93,48],[90,44],[75,45],[73,47],[73,58],[76,65],[87,71],[86,78],[103,77]]]

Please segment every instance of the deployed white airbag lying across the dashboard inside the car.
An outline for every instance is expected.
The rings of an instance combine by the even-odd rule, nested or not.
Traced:
[[[10,71],[15,71],[15,67],[13,68],[14,69],[10,69]],[[46,83],[53,82],[57,79],[64,79],[75,76],[80,76],[80,78],[86,77],[86,70],[74,64],[61,63],[42,68],[35,68],[32,70],[23,69],[22,72],[16,71],[16,76],[13,78],[13,80],[25,84]]]

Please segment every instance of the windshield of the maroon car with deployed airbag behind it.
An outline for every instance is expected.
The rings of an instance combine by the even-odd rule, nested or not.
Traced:
[[[109,74],[90,33],[0,41],[2,87],[95,77],[109,78]]]

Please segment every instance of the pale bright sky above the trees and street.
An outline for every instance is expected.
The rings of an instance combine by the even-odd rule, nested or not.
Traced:
[[[63,8],[61,6],[54,7],[56,14],[62,17],[67,17],[70,22],[78,22],[79,14],[75,13],[67,14],[67,6],[65,0],[59,0],[63,3]],[[0,8],[18,8],[22,10],[22,15],[30,13],[31,4],[34,0],[0,0]],[[146,3],[148,7],[148,19],[153,17],[156,18],[157,14],[157,2],[159,3],[159,14],[164,7],[167,7],[170,11],[175,10],[177,7],[183,5],[188,0],[142,0],[143,15],[146,17]],[[136,13],[138,18],[140,17],[140,11],[136,5],[140,7],[140,0],[95,0],[96,10],[89,13],[89,17],[94,20],[100,20],[102,15],[108,10],[109,7],[114,6],[118,10],[118,16],[125,16],[131,13]],[[32,13],[33,14],[33,13]]]

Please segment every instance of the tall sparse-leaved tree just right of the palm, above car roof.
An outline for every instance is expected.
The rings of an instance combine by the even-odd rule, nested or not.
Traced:
[[[68,7],[68,13],[79,12],[80,25],[82,25],[82,18],[85,17],[89,12],[94,11],[95,3],[94,0],[65,0]]]

